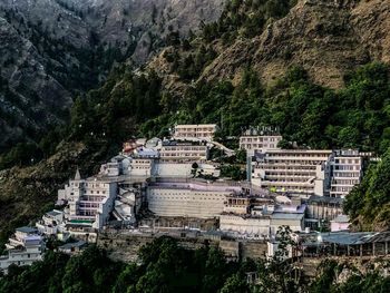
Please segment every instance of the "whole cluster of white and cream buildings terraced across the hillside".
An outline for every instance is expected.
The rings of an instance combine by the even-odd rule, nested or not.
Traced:
[[[139,217],[215,219],[217,232],[231,237],[270,240],[281,226],[302,232],[323,222],[348,227],[342,214],[345,195],[362,178],[364,154],[358,150],[282,149],[276,128],[250,128],[240,137],[247,152],[247,180],[221,178],[220,163],[209,159],[216,125],[177,125],[172,138],[130,139],[124,152],[81,178],[79,170],[37,228],[22,227],[0,256],[10,264],[40,260],[42,237],[70,236],[95,241],[115,225],[136,228]],[[222,147],[221,147],[222,146]],[[241,166],[242,167],[242,166]],[[244,167],[242,167],[244,168]],[[342,222],[342,221],[343,222]],[[79,252],[86,242],[61,246]]]

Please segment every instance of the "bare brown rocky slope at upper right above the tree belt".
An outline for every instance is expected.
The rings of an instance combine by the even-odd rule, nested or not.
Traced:
[[[341,88],[344,74],[357,66],[390,60],[390,2],[355,2],[301,0],[261,36],[215,46],[218,57],[201,78],[234,80],[251,65],[270,82],[294,64],[315,82]]]

